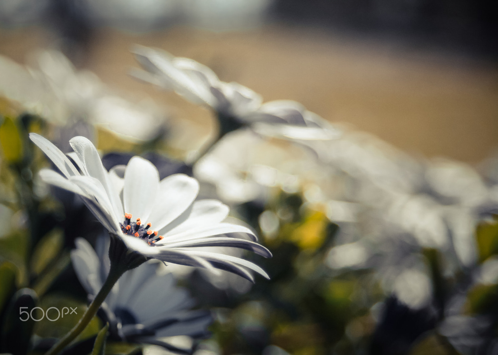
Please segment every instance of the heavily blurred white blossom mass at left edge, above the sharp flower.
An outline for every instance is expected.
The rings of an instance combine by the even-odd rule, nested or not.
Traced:
[[[164,115],[153,102],[126,101],[94,73],[77,71],[58,51],[39,53],[37,63],[39,69],[24,68],[0,56],[0,96],[51,123],[72,125],[84,120],[130,140],[151,139],[164,125]]]

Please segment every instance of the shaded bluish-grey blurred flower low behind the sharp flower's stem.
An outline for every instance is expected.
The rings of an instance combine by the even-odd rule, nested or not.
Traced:
[[[83,238],[75,240],[76,249],[71,251],[74,270],[90,299],[104,285],[111,266],[106,239],[97,240],[96,251]],[[158,344],[176,350],[171,344],[176,337],[188,337],[187,343],[192,344],[192,338],[208,335],[206,328],[212,322],[210,313],[190,311],[194,300],[186,290],[175,285],[171,273],[157,273],[160,265],[148,261],[126,271],[106,297],[101,316],[110,325],[112,340]]]

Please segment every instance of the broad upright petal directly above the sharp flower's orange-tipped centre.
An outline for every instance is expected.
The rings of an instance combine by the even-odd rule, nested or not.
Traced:
[[[134,156],[124,171],[124,212],[148,221],[159,190],[159,173],[148,160]]]

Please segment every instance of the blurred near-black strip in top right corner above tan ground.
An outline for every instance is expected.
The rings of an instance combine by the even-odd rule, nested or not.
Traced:
[[[498,3],[490,0],[277,0],[273,16],[414,46],[456,49],[496,59]]]

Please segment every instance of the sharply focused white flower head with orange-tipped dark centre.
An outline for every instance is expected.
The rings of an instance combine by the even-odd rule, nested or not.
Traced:
[[[128,250],[165,262],[227,270],[251,281],[249,270],[268,278],[259,266],[247,260],[196,250],[228,246],[271,256],[265,247],[242,238],[256,240],[248,228],[222,222],[229,213],[226,205],[217,200],[194,201],[199,191],[197,180],[174,174],[159,181],[155,166],[137,156],[125,168],[117,166],[107,172],[97,149],[85,137],[70,140],[74,152],[69,155],[75,166],[44,137],[30,133],[30,138],[62,173],[43,169],[42,180],[80,195],[95,217],[123,240]],[[120,170],[124,170],[124,178],[119,176]]]

